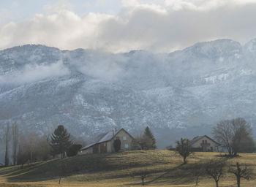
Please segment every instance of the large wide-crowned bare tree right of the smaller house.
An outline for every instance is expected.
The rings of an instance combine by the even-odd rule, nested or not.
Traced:
[[[212,133],[214,139],[227,149],[229,156],[236,156],[238,152],[252,153],[255,150],[252,129],[243,118],[220,121]]]

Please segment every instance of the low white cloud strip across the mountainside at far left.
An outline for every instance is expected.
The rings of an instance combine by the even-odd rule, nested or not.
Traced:
[[[31,83],[49,77],[60,77],[68,75],[69,70],[63,65],[62,61],[58,61],[50,65],[26,65],[23,69],[12,71],[7,75],[0,76],[0,84]]]

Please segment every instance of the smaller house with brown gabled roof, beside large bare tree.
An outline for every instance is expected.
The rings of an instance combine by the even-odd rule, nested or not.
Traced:
[[[197,136],[194,137],[190,141],[190,145],[192,148],[198,151],[211,151],[211,152],[217,152],[219,151],[219,143],[212,140],[210,137],[204,135],[204,136]]]

